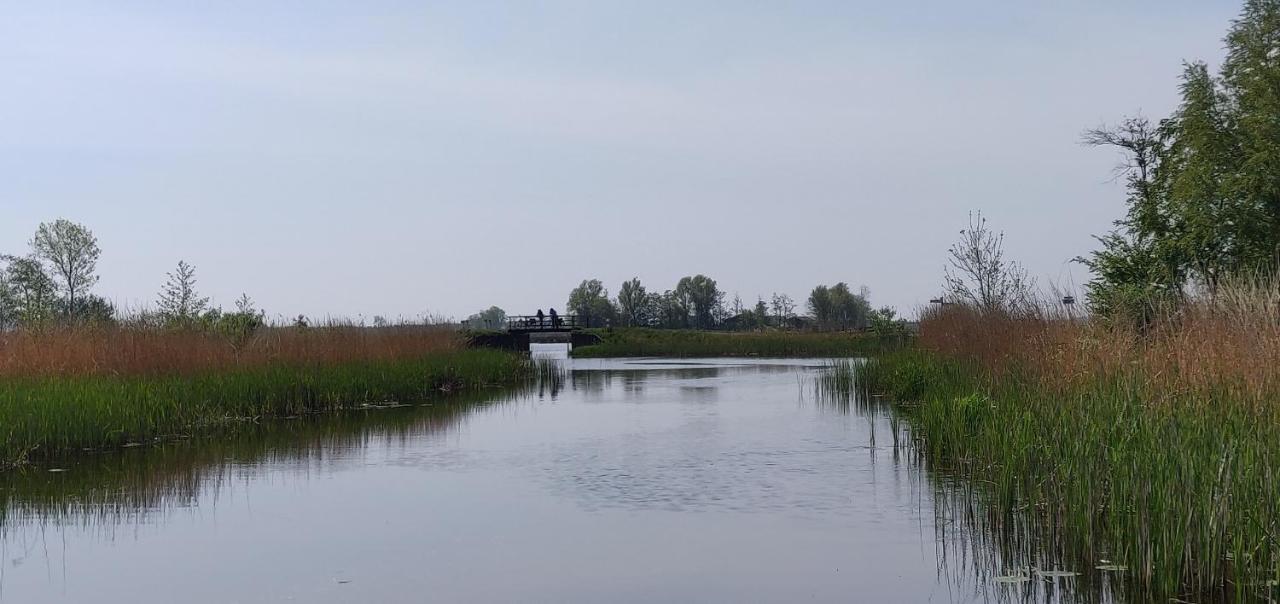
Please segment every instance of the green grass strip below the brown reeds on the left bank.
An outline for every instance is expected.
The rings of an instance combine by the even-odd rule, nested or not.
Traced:
[[[465,349],[196,375],[8,378],[0,381],[0,467],[246,418],[442,398],[512,385],[531,372],[529,361],[517,354]]]

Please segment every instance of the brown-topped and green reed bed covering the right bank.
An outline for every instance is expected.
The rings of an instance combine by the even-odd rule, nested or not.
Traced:
[[[837,369],[832,384],[887,394],[920,461],[980,488],[977,507],[943,509],[1002,559],[1102,568],[1137,599],[1274,599],[1274,287],[1229,285],[1140,331],[947,307],[923,317],[919,349]]]

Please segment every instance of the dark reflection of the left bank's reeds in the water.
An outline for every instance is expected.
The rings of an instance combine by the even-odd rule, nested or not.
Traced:
[[[196,507],[202,497],[216,497],[221,486],[269,467],[338,470],[358,463],[342,452],[408,447],[448,434],[476,409],[512,398],[512,392],[500,392],[424,406],[246,422],[193,440],[86,453],[3,472],[0,536],[46,523],[109,530]]]

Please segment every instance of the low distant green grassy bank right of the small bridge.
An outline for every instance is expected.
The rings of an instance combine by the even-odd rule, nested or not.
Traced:
[[[895,347],[893,340],[851,333],[695,331],[598,329],[602,343],[573,349],[575,357],[849,357]]]

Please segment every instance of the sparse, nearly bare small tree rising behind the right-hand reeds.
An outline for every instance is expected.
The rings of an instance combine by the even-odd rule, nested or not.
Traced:
[[[952,299],[983,312],[1020,312],[1034,302],[1027,271],[1005,260],[1005,234],[987,228],[982,212],[969,214],[969,228],[947,250],[946,289]]]

